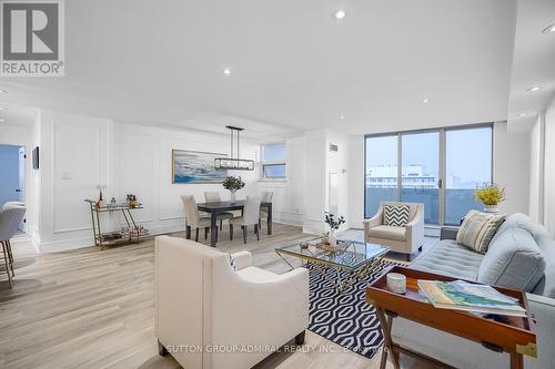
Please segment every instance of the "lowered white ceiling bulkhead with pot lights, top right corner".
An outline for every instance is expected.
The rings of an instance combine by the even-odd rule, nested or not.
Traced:
[[[526,131],[555,94],[555,33],[542,33],[555,23],[555,1],[519,0],[517,9],[508,124]],[[543,89],[526,92],[533,86]]]

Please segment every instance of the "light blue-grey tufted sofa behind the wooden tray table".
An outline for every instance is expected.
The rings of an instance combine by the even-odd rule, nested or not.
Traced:
[[[524,214],[500,227],[485,255],[456,243],[456,228],[444,228],[441,240],[411,268],[527,291],[536,320],[537,358],[524,357],[527,369],[555,367],[555,240]],[[393,339],[403,347],[456,368],[508,368],[509,356],[460,337],[398,318]]]

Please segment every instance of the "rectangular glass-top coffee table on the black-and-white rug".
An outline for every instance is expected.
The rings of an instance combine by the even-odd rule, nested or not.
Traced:
[[[276,247],[275,253],[294,269],[285,256],[297,257],[303,263],[314,264],[325,273],[325,268],[333,268],[336,273],[335,287],[339,293],[349,289],[356,280],[366,278],[374,266],[387,254],[389,247],[357,240],[339,239],[335,250],[323,248],[322,238],[311,238]],[[345,271],[345,275],[342,275]]]

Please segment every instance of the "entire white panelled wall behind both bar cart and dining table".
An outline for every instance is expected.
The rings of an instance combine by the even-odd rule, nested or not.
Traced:
[[[192,194],[204,201],[204,191],[229,193],[221,184],[172,184],[171,151],[191,150],[228,153],[225,135],[171,131],[108,119],[42,111],[36,134],[41,147],[36,188],[40,204],[33,242],[41,252],[54,252],[93,245],[90,208],[85,198],[98,198],[99,184],[107,185],[104,199],[124,199],[133,193],[144,204],[135,219],[153,234],[182,230],[180,195]],[[258,157],[259,146],[243,141],[241,155]],[[258,193],[258,173],[241,175],[246,186],[238,193]],[[104,215],[104,230],[120,227],[120,215]]]

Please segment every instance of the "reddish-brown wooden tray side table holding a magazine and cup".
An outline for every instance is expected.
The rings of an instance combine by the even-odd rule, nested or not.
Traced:
[[[390,291],[386,284],[387,273],[400,273],[406,277],[406,294],[398,295]],[[401,347],[392,340],[391,330],[393,319],[402,317],[445,332],[482,344],[485,348],[511,355],[511,369],[524,368],[523,355],[536,357],[535,325],[528,309],[526,294],[514,289],[496,287],[498,291],[518,299],[526,309],[526,317],[485,318],[466,311],[437,309],[420,295],[417,280],[444,280],[452,278],[438,274],[425,273],[400,266],[391,267],[366,288],[366,300],[376,309],[382,324],[385,350],[382,351],[380,368],[385,368],[389,352],[395,369],[400,369],[400,353],[413,357],[416,360],[431,365],[453,368],[434,358]]]

